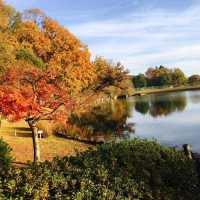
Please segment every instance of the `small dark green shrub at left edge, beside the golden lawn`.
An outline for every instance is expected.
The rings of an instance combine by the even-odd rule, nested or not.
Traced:
[[[0,138],[0,174],[4,173],[11,166],[13,160],[10,146]]]

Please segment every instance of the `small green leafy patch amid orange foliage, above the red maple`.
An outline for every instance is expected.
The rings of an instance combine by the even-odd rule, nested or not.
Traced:
[[[31,50],[28,49],[18,49],[16,52],[17,60],[25,60],[38,68],[45,69],[46,65],[43,60],[37,57]]]

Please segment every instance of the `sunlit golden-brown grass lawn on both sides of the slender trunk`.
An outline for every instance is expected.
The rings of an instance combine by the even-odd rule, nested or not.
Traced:
[[[15,136],[16,130],[16,136]],[[31,132],[25,122],[8,123],[2,120],[0,137],[13,149],[13,156],[16,162],[26,163],[33,159],[33,147]],[[77,152],[88,149],[90,145],[49,136],[40,140],[41,160],[51,160],[55,156],[63,157],[75,155]]]

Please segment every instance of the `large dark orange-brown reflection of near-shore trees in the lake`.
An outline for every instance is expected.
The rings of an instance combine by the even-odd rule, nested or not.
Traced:
[[[127,101],[110,101],[87,112],[74,114],[67,125],[67,133],[87,141],[110,141],[129,138],[134,124],[127,123],[130,104]]]

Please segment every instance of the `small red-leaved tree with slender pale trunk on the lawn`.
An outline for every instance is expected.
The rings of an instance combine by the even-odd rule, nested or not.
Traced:
[[[9,68],[1,77],[1,115],[10,121],[27,121],[32,130],[34,162],[40,161],[38,122],[66,120],[72,107],[68,91],[48,71],[26,64]]]

